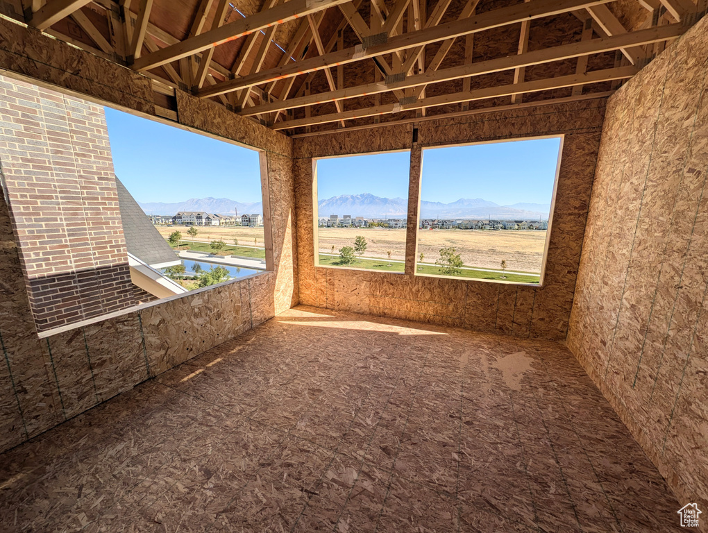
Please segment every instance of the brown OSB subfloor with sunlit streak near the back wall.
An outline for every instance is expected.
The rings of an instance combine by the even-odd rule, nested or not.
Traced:
[[[561,345],[298,307],[0,456],[0,529],[659,532]]]

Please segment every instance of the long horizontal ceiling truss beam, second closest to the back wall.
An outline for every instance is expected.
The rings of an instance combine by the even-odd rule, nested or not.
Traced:
[[[465,78],[469,76],[482,76],[492,72],[515,69],[516,67],[530,67],[531,65],[562,61],[573,57],[587,56],[590,54],[600,54],[618,50],[620,47],[629,45],[643,45],[651,42],[658,42],[678,38],[685,28],[681,24],[655,26],[646,30],[639,30],[624,35],[614,37],[603,37],[579,42],[571,42],[568,45],[561,45],[543,50],[534,50],[522,55],[512,55],[499,57],[498,59],[488,59],[476,63],[462,64],[457,67],[450,67],[438,71],[426,71],[424,74],[407,76],[402,81],[391,84],[365,84],[355,87],[348,87],[337,91],[314,94],[309,97],[292,98],[286,101],[273,102],[265,105],[258,105],[256,108],[248,108],[241,111],[241,115],[251,115],[257,113],[269,113],[275,110],[285,110],[299,108],[305,105],[315,105],[318,103],[330,102],[342,98],[357,98],[368,94],[384,93],[392,91],[394,88],[408,88],[424,84],[440,83],[452,79]],[[581,73],[578,73],[581,74]]]

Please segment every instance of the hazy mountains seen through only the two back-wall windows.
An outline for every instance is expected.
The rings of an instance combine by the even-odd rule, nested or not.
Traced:
[[[382,198],[370,193],[360,195],[340,195],[320,200],[319,217],[330,214],[350,214],[352,217],[386,218],[405,217],[407,201],[403,198]],[[520,220],[547,220],[551,211],[550,204],[520,202],[511,205],[499,205],[482,198],[460,198],[455,202],[421,201],[421,218],[479,218]]]

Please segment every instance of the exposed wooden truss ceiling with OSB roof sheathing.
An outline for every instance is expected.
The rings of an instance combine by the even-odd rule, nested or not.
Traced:
[[[15,18],[287,134],[607,96],[708,0],[14,0]],[[697,4],[694,3],[697,1]]]

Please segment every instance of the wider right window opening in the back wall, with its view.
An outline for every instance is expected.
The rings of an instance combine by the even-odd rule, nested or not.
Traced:
[[[541,284],[562,144],[423,149],[416,274]]]

